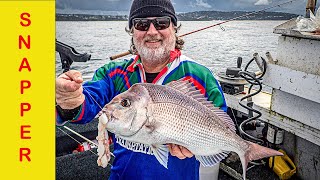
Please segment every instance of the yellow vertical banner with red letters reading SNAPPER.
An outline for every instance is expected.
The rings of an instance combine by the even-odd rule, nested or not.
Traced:
[[[55,1],[0,1],[1,179],[55,179]]]

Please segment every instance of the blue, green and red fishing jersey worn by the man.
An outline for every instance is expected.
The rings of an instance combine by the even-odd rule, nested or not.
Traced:
[[[171,81],[185,79],[193,83],[200,92],[213,102],[215,107],[227,110],[220,85],[212,72],[203,65],[172,51],[170,62],[152,83],[165,85]],[[117,94],[128,90],[135,83],[146,82],[145,72],[139,56],[129,60],[112,61],[96,70],[93,79],[83,87],[85,101],[72,123],[90,122],[96,114]],[[99,106],[97,105],[99,104]],[[57,124],[63,122],[57,114]],[[112,135],[115,159],[110,179],[199,179],[199,162],[192,158],[183,160],[168,157],[168,168],[163,167],[148,145],[133,143]]]

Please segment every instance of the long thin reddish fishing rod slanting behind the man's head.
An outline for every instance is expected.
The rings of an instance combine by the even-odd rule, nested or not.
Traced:
[[[297,0],[290,0],[290,1],[287,1],[287,2],[284,2],[284,3],[280,3],[280,4],[277,4],[277,5],[271,6],[271,7],[267,7],[267,8],[261,9],[261,10],[259,10],[259,11],[254,11],[254,12],[246,13],[246,14],[244,14],[244,15],[237,16],[237,17],[228,19],[228,20],[226,20],[226,21],[222,21],[222,22],[219,22],[219,23],[216,23],[216,24],[207,26],[207,27],[203,27],[203,28],[200,28],[200,29],[197,29],[197,30],[194,30],[194,31],[191,31],[191,32],[182,34],[182,35],[179,35],[178,37],[184,37],[184,36],[187,36],[187,35],[189,35],[189,34],[193,34],[193,33],[199,32],[199,31],[203,31],[203,30],[205,30],[205,29],[209,29],[209,28],[212,28],[212,27],[215,27],[215,26],[220,26],[221,24],[224,24],[224,23],[227,23],[227,22],[230,22],[230,21],[234,21],[234,20],[237,20],[237,19],[240,19],[240,18],[243,18],[243,17],[247,17],[247,16],[250,16],[250,15],[258,14],[258,13],[260,13],[260,12],[263,12],[263,11],[266,11],[266,10],[269,10],[269,9],[273,9],[273,8],[275,8],[275,7],[280,7],[280,6],[283,6],[283,5],[285,5],[285,4],[293,3],[294,1],[297,1]],[[117,55],[114,55],[114,56],[110,56],[109,59],[110,59],[110,60],[115,60],[115,59],[117,59],[117,58],[120,58],[120,57],[129,55],[129,54],[132,54],[132,51],[131,51],[131,50],[128,50],[128,51],[126,51],[126,52],[123,52],[123,53],[120,53],[120,54],[117,54]]]

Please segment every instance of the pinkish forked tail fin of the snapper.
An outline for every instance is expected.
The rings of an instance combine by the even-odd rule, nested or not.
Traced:
[[[248,151],[245,152],[244,157],[240,156],[243,170],[243,179],[246,179],[246,169],[248,163],[252,160],[262,159],[270,156],[283,156],[279,151],[260,146],[249,141],[246,141],[249,144]]]

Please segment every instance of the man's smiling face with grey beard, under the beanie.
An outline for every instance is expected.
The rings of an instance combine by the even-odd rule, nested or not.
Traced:
[[[146,19],[156,18],[151,17]],[[176,41],[175,29],[171,21],[169,22],[169,27],[165,29],[160,27],[162,25],[161,22],[160,24],[157,24],[157,22],[155,22],[156,27],[153,23],[150,23],[147,30],[138,30],[139,28],[135,26],[135,23],[133,24],[133,43],[138,50],[138,54],[143,61],[147,61],[146,63],[151,63],[152,61],[152,64],[155,66],[169,59],[170,51],[174,50]]]

